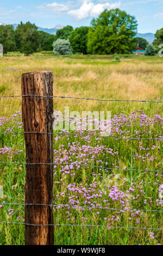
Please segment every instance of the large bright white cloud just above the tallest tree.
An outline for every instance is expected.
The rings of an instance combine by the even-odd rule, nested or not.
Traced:
[[[70,10],[68,14],[73,17],[74,20],[80,21],[84,20],[89,17],[98,17],[104,9],[114,9],[119,8],[121,2],[116,3],[103,3],[103,4],[94,4],[92,1],[84,0],[83,4],[80,6],[79,9]]]

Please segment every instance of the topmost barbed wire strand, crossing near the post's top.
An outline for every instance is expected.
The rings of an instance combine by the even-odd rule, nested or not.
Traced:
[[[81,98],[81,97],[70,97],[70,96],[43,96],[43,95],[9,95],[9,96],[0,96],[0,97],[53,97],[53,98],[61,98],[61,99],[76,99],[76,100],[96,100],[96,101],[124,101],[124,102],[144,102],[144,103],[163,103],[163,101],[146,101],[146,100],[102,100],[102,99],[91,99],[91,98]]]

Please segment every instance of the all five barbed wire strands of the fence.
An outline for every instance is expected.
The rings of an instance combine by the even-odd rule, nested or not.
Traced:
[[[146,101],[146,100],[104,100],[104,99],[91,99],[91,98],[82,98],[82,97],[69,97],[69,96],[41,96],[41,95],[9,95],[9,96],[0,96],[0,98],[5,98],[5,97],[36,97],[36,98],[46,98],[46,97],[53,97],[53,98],[61,98],[61,99],[78,99],[78,100],[95,100],[95,101],[105,101],[105,102],[143,102],[143,103],[163,103],[163,101]],[[1,135],[10,135],[10,134],[37,134],[37,135],[72,135],[72,136],[92,136],[92,137],[104,137],[104,138],[110,138],[110,139],[115,139],[115,140],[159,140],[162,141],[162,137],[160,136],[159,138],[116,138],[116,137],[110,137],[110,136],[101,136],[101,135],[95,135],[91,133],[70,133],[70,132],[0,132]],[[8,161],[3,161],[0,163],[5,163],[5,164],[27,164],[27,165],[73,165],[73,166],[84,166],[84,167],[93,167],[93,168],[100,168],[100,169],[109,169],[109,170],[121,170],[121,171],[137,171],[137,172],[163,172],[163,170],[143,170],[143,169],[119,169],[119,168],[108,168],[108,167],[103,167],[103,166],[96,166],[96,165],[89,165],[89,164],[80,164],[80,163],[26,163],[26,162],[8,162]],[[106,207],[91,207],[91,206],[81,206],[81,205],[62,205],[62,204],[54,204],[54,205],[48,205],[48,204],[21,204],[21,203],[1,203],[1,205],[22,205],[22,206],[28,206],[28,205],[40,205],[40,206],[51,206],[53,208],[73,208],[73,209],[99,209],[99,210],[112,210],[112,211],[121,211],[121,212],[163,212],[162,210],[146,210],[146,209],[114,209],[114,208],[108,208]],[[110,225],[84,225],[84,224],[30,224],[30,223],[21,223],[21,222],[3,222],[0,221],[0,223],[4,224],[21,224],[21,225],[32,225],[32,226],[70,226],[70,227],[103,227],[103,228],[108,228],[108,229],[147,229],[147,230],[163,230],[163,228],[152,228],[152,227],[118,227],[118,226],[110,226]]]

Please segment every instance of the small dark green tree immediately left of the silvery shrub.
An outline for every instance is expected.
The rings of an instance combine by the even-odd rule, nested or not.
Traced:
[[[40,48],[43,51],[53,51],[53,42],[57,40],[56,35],[51,35],[49,33],[38,31]]]

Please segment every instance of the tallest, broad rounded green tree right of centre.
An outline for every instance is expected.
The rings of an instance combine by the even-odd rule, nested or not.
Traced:
[[[128,53],[133,50],[137,21],[120,9],[104,10],[91,21],[87,50],[93,54]]]

